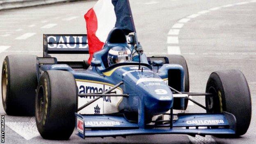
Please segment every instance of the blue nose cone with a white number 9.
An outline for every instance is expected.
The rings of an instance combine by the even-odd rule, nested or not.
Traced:
[[[152,115],[162,114],[173,105],[172,92],[160,78],[140,78],[136,82],[139,92],[144,98],[145,111]]]

